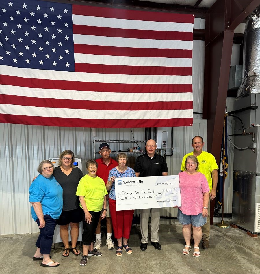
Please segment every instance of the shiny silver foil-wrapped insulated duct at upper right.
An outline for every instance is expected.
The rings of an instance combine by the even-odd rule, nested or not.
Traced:
[[[251,93],[260,93],[260,6],[246,22],[242,82],[237,97]]]

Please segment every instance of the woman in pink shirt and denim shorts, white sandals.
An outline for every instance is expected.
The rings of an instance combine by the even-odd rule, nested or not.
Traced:
[[[184,255],[190,253],[191,226],[194,238],[194,257],[200,256],[199,243],[202,238],[201,227],[207,222],[209,184],[206,177],[197,171],[198,159],[188,156],[185,161],[185,171],[179,173],[181,190],[181,207],[178,208],[178,220],[182,224],[182,234],[186,245],[182,250]]]

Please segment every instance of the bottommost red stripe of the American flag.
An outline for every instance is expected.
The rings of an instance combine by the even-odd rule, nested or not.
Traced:
[[[50,114],[50,113],[49,113]],[[48,118],[52,118],[49,116]],[[60,127],[82,127],[82,125],[99,125],[100,128],[115,128],[114,120],[107,119],[79,119],[79,118],[60,118],[46,119],[46,116],[25,116],[25,115],[8,115],[0,114],[1,123],[13,123],[13,124],[27,124],[27,125],[45,125]],[[168,127],[169,125],[191,126],[192,118],[172,118],[172,119],[139,119],[128,120],[120,119],[117,123],[118,128],[126,127],[157,127],[160,124],[162,127]]]

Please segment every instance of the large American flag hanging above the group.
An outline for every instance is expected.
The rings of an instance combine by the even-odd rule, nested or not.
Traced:
[[[193,15],[8,1],[0,3],[0,122],[192,125]]]

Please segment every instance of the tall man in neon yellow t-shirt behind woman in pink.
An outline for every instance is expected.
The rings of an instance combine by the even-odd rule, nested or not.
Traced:
[[[202,226],[202,247],[204,249],[209,248],[209,235],[210,235],[210,201],[216,197],[216,189],[218,184],[218,165],[215,157],[206,151],[203,151],[204,146],[203,138],[201,136],[195,136],[192,138],[192,147],[194,151],[186,154],[181,163],[181,170],[185,170],[185,160],[189,155],[197,157],[200,163],[198,171],[205,175],[209,183],[210,199],[208,204],[208,216],[207,223]]]

